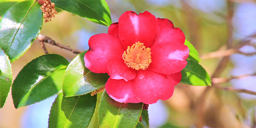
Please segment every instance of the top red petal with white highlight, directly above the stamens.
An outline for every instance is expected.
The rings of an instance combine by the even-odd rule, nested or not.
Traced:
[[[144,43],[150,47],[156,34],[157,20],[150,12],[145,11],[137,15],[133,11],[122,14],[118,20],[119,35],[124,48],[135,42]]]

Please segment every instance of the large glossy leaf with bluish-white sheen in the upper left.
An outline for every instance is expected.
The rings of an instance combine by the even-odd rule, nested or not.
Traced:
[[[42,27],[42,12],[36,0],[12,6],[0,20],[0,47],[11,63],[32,45]]]

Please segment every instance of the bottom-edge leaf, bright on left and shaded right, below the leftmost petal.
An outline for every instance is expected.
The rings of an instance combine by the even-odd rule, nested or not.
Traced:
[[[87,128],[93,117],[97,96],[64,97],[59,93],[52,104],[49,128]]]

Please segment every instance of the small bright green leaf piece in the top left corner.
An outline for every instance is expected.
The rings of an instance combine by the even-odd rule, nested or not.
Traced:
[[[14,4],[19,3],[20,1],[24,1],[24,0],[1,0],[0,16],[2,16],[5,13],[5,11],[7,11],[10,7],[12,7]]]

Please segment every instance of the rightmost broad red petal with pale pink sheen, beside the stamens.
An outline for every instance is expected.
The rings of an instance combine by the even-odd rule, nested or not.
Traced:
[[[152,62],[148,68],[160,74],[173,74],[186,67],[188,46],[180,43],[165,43],[151,47]]]

